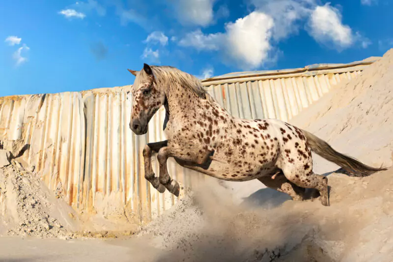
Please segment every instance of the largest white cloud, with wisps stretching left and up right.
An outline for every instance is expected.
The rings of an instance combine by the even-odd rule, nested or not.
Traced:
[[[274,44],[299,29],[297,21],[307,18],[314,0],[251,0],[256,11],[225,25],[224,33],[186,34],[178,44],[197,50],[220,51],[228,63],[244,70],[255,69],[277,57]],[[276,51],[276,50],[275,50]]]

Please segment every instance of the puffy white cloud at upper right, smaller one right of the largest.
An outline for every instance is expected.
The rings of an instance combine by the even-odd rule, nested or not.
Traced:
[[[355,38],[352,29],[343,25],[341,14],[329,3],[317,6],[309,19],[309,33],[319,43],[333,44],[337,49],[351,46]]]

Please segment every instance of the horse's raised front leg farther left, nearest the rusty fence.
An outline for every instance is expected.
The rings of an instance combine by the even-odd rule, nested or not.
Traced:
[[[156,143],[149,143],[143,148],[144,178],[146,178],[146,180],[148,180],[160,193],[165,192],[165,186],[160,183],[159,178],[156,177],[153,172],[153,168],[151,166],[151,155],[152,151],[158,152],[162,147],[167,145],[168,141],[165,140]]]

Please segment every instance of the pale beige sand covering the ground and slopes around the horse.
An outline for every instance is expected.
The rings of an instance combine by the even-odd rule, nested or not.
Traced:
[[[392,110],[393,50],[390,50],[361,76],[341,83],[289,122],[368,165],[390,167]],[[25,233],[24,238],[0,237],[0,261],[392,262],[393,170],[363,178],[349,177],[339,173],[335,164],[313,157],[314,171],[329,178],[329,207],[322,206],[319,199],[294,202],[282,193],[264,188],[256,180],[223,184],[207,179],[209,183],[200,185],[192,195],[140,229],[138,234],[107,240],[87,239],[77,234],[64,240],[73,230],[73,224],[64,215],[67,214],[64,206],[58,207],[59,203],[53,199],[44,199],[42,203],[56,208],[38,204],[36,199],[40,199],[41,193],[30,193],[34,198],[23,202],[21,197],[30,192],[24,191],[23,178],[12,182],[13,187],[9,184],[4,187],[0,182],[0,201],[3,188],[15,196],[22,192],[21,197],[9,198],[16,205],[37,201],[37,208],[28,211],[33,213],[24,216],[16,209],[13,217],[22,217],[20,220],[25,224],[24,217],[41,219],[28,220],[34,221],[33,229],[38,232],[33,236]],[[5,180],[16,176],[15,166],[1,168],[3,174],[8,174]],[[30,184],[34,184],[33,173],[29,174]],[[15,185],[21,188],[15,189]],[[38,188],[32,190],[45,192]],[[2,215],[0,221],[5,225],[4,212]],[[64,231],[54,231],[56,222],[51,222],[52,217]],[[44,222],[48,222],[49,230]],[[40,223],[44,224],[40,226]],[[12,227],[11,224],[3,228],[19,235],[18,232],[31,228],[19,230],[20,223]],[[34,237],[50,234],[55,237]]]

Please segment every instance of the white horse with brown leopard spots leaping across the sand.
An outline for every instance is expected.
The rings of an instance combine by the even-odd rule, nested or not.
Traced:
[[[311,151],[349,174],[371,175],[373,168],[341,154],[306,130],[274,118],[241,119],[223,109],[199,79],[172,66],[143,64],[132,92],[130,129],[147,133],[152,116],[165,107],[163,130],[167,140],[143,148],[144,177],[160,193],[179,196],[180,187],[167,169],[169,157],[180,166],[227,181],[258,179],[265,186],[302,201],[306,188],[319,192],[329,206],[328,178],[315,174]],[[151,163],[157,153],[159,177]],[[347,174],[348,175],[348,174]]]

